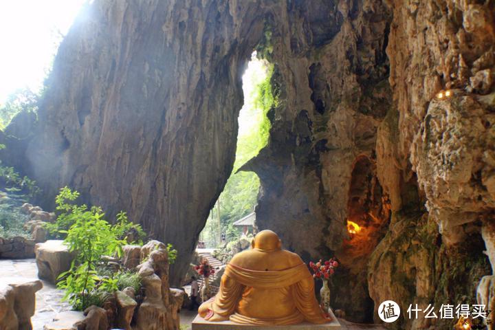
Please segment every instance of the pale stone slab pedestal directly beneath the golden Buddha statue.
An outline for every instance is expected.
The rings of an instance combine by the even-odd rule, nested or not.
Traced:
[[[333,318],[332,322],[325,325],[314,325],[309,322],[300,323],[299,325],[277,325],[277,326],[267,326],[267,325],[239,325],[231,321],[222,322],[208,322],[203,320],[201,316],[196,316],[194,321],[192,321],[192,330],[333,330],[340,329],[340,323],[337,318],[330,311],[330,315]]]

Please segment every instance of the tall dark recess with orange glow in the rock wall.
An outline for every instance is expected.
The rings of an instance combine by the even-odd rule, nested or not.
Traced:
[[[337,253],[342,269],[335,278],[335,306],[346,312],[349,320],[373,322],[374,303],[367,283],[370,255],[388,227],[391,208],[376,177],[375,159],[358,155],[353,163],[347,199],[347,232]],[[353,281],[349,282],[349,278]]]

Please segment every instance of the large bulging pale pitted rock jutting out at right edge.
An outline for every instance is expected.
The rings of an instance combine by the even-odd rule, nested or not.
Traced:
[[[434,99],[412,142],[411,160],[430,216],[449,243],[464,223],[495,208],[495,114],[471,95]]]

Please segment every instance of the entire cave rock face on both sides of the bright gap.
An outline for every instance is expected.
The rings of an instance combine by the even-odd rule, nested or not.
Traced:
[[[269,144],[243,167],[261,179],[259,228],[306,261],[340,257],[333,307],[352,320],[376,320],[385,298],[403,310],[472,305],[490,275],[485,246],[495,260],[494,11],[475,0],[96,0],[61,45],[28,147],[6,143],[48,199],[72,186],[173,243],[178,283],[232,169],[256,47],[278,98]],[[349,236],[347,220],[362,230]],[[493,305],[489,283],[478,299]]]

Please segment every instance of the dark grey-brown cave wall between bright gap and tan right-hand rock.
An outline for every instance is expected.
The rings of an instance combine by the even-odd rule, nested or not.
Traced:
[[[285,248],[305,261],[338,256],[332,306],[350,320],[373,322],[366,265],[390,218],[376,177],[375,144],[392,105],[385,53],[391,11],[382,1],[287,1],[272,15],[267,57],[275,65],[279,102],[268,113],[267,147],[243,167],[261,179],[256,221],[260,229],[276,230]],[[360,159],[367,165],[358,166],[355,175],[364,177],[356,181],[373,181],[380,219],[366,220],[374,212],[368,203],[374,190],[359,190],[357,217],[369,241],[353,248],[349,193]]]

